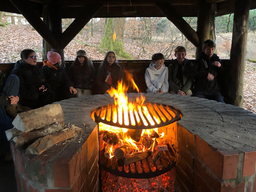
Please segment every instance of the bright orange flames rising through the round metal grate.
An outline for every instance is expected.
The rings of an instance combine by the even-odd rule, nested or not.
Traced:
[[[139,92],[139,88],[137,85],[134,83],[134,80],[132,79],[131,74],[128,73],[128,79],[131,81],[131,85],[134,87]],[[131,125],[135,125],[135,119],[134,116],[139,124],[144,123],[144,125],[148,125],[148,122],[151,125],[155,125],[155,122],[159,124],[160,119],[159,117],[154,116],[154,120],[151,118],[149,115],[147,107],[143,105],[145,102],[145,97],[144,96],[137,96],[136,102],[129,102],[128,97],[125,95],[125,93],[128,90],[128,86],[121,82],[118,82],[117,89],[114,89],[111,87],[111,90],[108,91],[111,97],[114,97],[115,105],[117,106],[116,108],[113,108],[113,122],[119,122],[119,124],[124,124],[124,125],[129,125],[129,115],[131,117]],[[148,122],[144,118],[142,112],[145,114],[146,118],[148,119]],[[134,114],[134,115],[133,115]],[[140,119],[140,117],[141,119]],[[101,117],[102,119],[105,119],[105,116]],[[108,112],[106,116],[106,120],[110,121],[111,120],[111,113]],[[142,122],[141,122],[142,120]],[[104,123],[99,123],[99,131],[102,133],[102,131],[108,131],[110,133],[115,133],[118,137],[118,142],[116,144],[107,145],[105,147],[105,152],[108,154],[108,158],[112,158],[114,156],[114,150],[116,148],[125,148],[127,150],[128,155],[132,155],[137,152],[143,152],[143,151],[148,151],[154,150],[154,147],[156,145],[156,140],[159,137],[163,137],[164,133],[158,135],[158,128],[154,129],[143,129],[143,130],[134,130],[134,129],[127,129],[127,128],[119,128],[119,127],[114,127],[111,125],[106,125]],[[138,135],[139,134],[139,139],[134,139],[135,137],[131,137],[131,135]],[[101,136],[100,136],[101,137]],[[108,143],[109,144],[109,143]],[[101,143],[101,149],[104,146],[104,142]]]

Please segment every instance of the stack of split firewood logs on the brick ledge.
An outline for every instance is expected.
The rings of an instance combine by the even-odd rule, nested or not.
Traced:
[[[8,140],[15,147],[26,147],[26,154],[41,154],[51,146],[75,136],[74,130],[65,128],[64,114],[60,104],[18,113],[6,131]]]

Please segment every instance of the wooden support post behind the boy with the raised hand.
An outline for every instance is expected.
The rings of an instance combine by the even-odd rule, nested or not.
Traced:
[[[199,54],[202,52],[204,41],[210,38],[211,29],[215,22],[213,13],[211,4],[206,2],[198,4],[197,34],[199,44],[196,46],[195,58],[198,58]],[[213,41],[215,41],[215,39],[213,39]]]

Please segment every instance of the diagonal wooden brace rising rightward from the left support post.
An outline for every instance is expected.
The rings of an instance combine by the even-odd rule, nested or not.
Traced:
[[[70,41],[83,29],[91,18],[102,8],[101,4],[87,6],[61,35],[61,49],[64,49]]]

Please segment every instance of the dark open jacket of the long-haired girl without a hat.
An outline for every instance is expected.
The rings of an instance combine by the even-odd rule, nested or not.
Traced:
[[[110,87],[117,88],[117,81],[122,80],[122,67],[117,64],[113,63],[113,68],[111,71],[111,76],[112,76],[112,84],[109,86],[106,82],[105,79],[108,76],[108,70],[107,70],[107,64],[102,63],[99,66],[98,69],[98,74],[97,74],[97,83],[99,86],[99,92],[100,94],[104,94],[106,90],[110,89]]]

